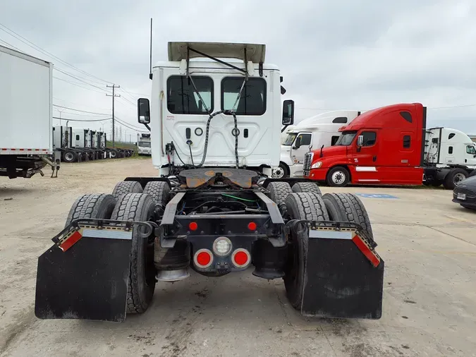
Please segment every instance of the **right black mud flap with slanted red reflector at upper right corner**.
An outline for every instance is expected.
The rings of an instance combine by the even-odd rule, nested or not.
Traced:
[[[379,319],[384,261],[355,229],[310,230],[301,313]]]

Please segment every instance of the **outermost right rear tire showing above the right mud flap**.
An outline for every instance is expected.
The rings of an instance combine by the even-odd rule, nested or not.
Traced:
[[[326,193],[322,196],[322,200],[331,221],[359,224],[367,236],[374,241],[370,218],[360,198],[352,193]]]

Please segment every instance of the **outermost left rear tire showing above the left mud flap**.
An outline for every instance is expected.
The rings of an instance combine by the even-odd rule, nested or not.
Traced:
[[[101,218],[110,219],[116,198],[113,195],[105,193],[91,193],[83,195],[73,203],[68,217],[66,218],[65,227],[74,219],[81,218]]]

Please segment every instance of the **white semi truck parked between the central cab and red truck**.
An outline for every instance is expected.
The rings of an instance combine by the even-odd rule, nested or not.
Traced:
[[[335,110],[311,116],[297,125],[287,128],[281,140],[279,167],[273,169],[274,178],[303,176],[304,155],[319,147],[332,146],[341,133],[338,129],[347,125],[364,111]],[[281,138],[283,137],[281,133]]]

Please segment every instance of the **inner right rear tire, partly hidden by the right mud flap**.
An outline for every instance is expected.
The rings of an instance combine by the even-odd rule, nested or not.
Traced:
[[[286,207],[291,219],[329,220],[324,201],[315,193],[291,193],[286,198]],[[307,240],[308,233],[305,230],[301,234],[293,234],[288,245],[289,264],[283,279],[289,303],[296,310],[300,310],[303,303]]]

